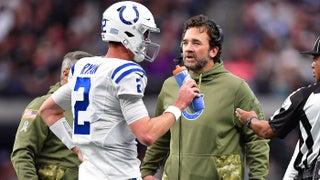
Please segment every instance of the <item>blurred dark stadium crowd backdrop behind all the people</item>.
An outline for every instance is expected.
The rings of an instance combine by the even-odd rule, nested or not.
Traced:
[[[0,1],[0,180],[16,179],[10,152],[21,113],[34,97],[59,78],[63,55],[83,50],[104,55],[101,14],[111,0]],[[224,30],[222,58],[258,96],[266,117],[296,88],[313,82],[312,49],[320,31],[318,0],[140,0],[161,29],[161,50],[148,73],[145,102],[153,115],[157,93],[171,75],[179,53],[183,22],[206,14]],[[296,133],[270,141],[268,179],[281,179],[296,143]]]

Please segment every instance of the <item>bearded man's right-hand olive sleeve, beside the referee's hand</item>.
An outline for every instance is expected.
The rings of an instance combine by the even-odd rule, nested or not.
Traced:
[[[259,119],[265,119],[262,107],[246,83],[241,84],[236,103],[241,109],[255,111]],[[269,140],[256,135],[251,129],[243,126],[237,117],[234,117],[240,126],[245,143],[245,158],[249,166],[249,179],[266,179],[269,173]]]

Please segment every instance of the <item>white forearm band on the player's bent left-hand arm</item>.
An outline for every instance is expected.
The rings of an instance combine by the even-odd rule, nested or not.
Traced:
[[[71,150],[75,147],[71,139],[72,129],[64,117],[56,121],[49,128],[67,146],[68,149]]]

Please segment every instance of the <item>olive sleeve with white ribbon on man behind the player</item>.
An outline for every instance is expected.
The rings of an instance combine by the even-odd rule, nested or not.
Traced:
[[[11,161],[19,180],[38,179],[36,154],[42,149],[48,127],[38,114],[43,99],[33,100],[24,110],[17,128]]]

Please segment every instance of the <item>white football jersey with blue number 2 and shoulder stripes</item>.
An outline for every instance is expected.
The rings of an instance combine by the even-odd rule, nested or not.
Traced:
[[[121,100],[141,100],[146,84],[146,73],[135,62],[90,57],[71,68],[66,87],[52,96],[64,109],[71,102],[73,142],[84,161],[108,179],[140,177],[135,136],[129,125],[148,112],[144,104],[139,111],[123,112]]]

